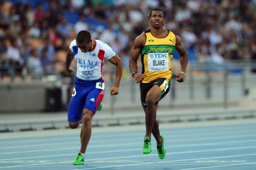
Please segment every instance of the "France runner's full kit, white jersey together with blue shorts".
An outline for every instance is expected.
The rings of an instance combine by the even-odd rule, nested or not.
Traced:
[[[96,113],[103,99],[105,82],[103,79],[104,60],[115,56],[115,52],[100,40],[94,40],[92,52],[83,53],[76,45],[70,43],[69,49],[75,55],[77,73],[74,91],[68,107],[68,121],[82,120],[83,109]]]

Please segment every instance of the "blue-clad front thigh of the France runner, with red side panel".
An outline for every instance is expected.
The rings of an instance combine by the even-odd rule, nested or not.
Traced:
[[[104,96],[104,90],[99,88],[91,88],[85,99],[84,108],[89,109],[93,114],[98,110]]]

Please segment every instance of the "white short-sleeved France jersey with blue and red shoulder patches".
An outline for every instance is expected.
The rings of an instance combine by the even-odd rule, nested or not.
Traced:
[[[92,52],[83,53],[76,45],[76,40],[70,43],[69,49],[75,55],[77,63],[76,77],[82,80],[98,80],[102,77],[104,60],[115,56],[115,52],[100,40],[94,40]]]

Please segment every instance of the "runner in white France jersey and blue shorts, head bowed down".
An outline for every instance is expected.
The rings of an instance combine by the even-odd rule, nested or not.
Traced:
[[[69,73],[74,71],[70,67],[74,58],[77,62],[77,73],[68,107],[68,124],[71,129],[76,129],[82,123],[81,148],[73,165],[83,165],[85,150],[91,137],[92,118],[104,95],[104,60],[116,65],[115,84],[111,88],[111,95],[118,95],[123,62],[107,44],[91,39],[88,31],[78,32],[76,39],[70,43],[66,56],[66,70]]]

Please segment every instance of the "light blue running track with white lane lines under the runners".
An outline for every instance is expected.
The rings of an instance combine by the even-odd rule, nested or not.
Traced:
[[[79,130],[66,135],[53,135],[51,132],[58,130],[51,130],[41,137],[0,139],[0,170],[256,169],[256,123],[198,123],[183,128],[165,125],[161,128],[166,149],[163,160],[157,156],[154,138],[153,151],[142,154],[144,126],[135,131],[129,130],[129,126],[123,131],[106,129],[105,132],[92,132],[83,166],[72,165],[79,150]]]

